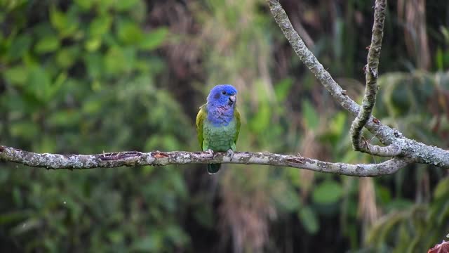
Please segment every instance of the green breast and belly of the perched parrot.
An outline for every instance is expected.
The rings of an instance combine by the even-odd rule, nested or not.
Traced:
[[[236,120],[226,126],[214,126],[206,119],[203,126],[203,150],[227,151],[235,148]]]

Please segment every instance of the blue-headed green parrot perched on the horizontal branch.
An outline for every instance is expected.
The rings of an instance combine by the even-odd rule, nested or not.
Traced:
[[[210,90],[207,103],[196,115],[196,132],[201,150],[213,155],[226,151],[231,157],[240,133],[240,113],[236,108],[237,90],[230,84],[220,84]],[[208,173],[215,174],[221,164],[208,164]]]

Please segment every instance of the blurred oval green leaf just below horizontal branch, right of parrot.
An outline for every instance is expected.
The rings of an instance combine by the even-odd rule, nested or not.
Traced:
[[[335,181],[324,181],[314,189],[312,199],[317,204],[332,204],[340,200],[343,195],[343,188]]]

